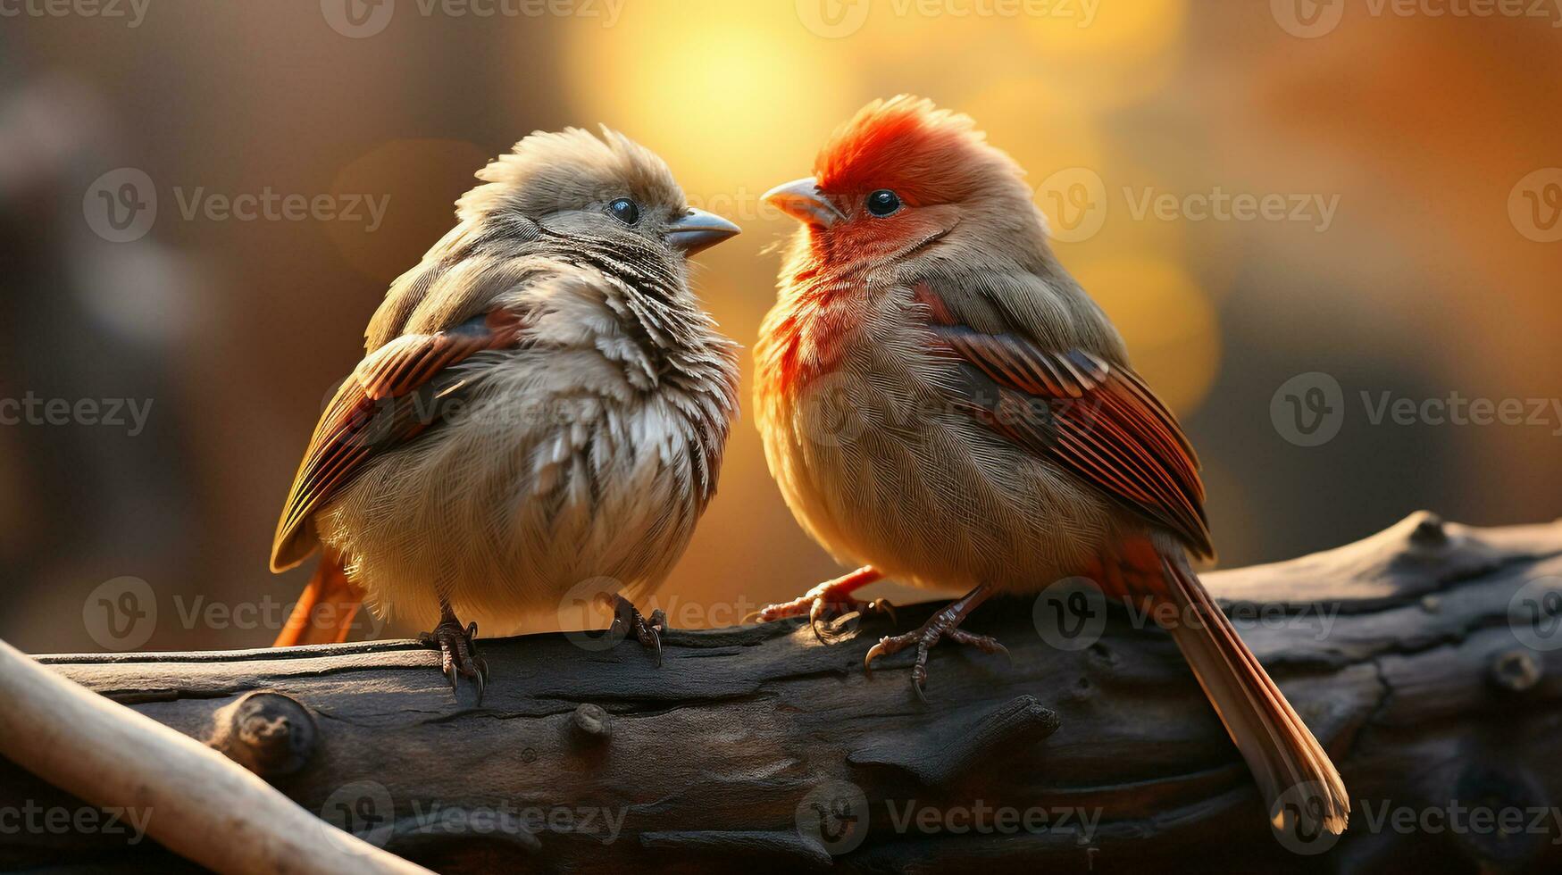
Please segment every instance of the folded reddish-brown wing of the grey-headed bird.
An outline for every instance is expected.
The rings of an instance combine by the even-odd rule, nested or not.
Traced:
[[[436,334],[403,334],[364,356],[314,428],[276,523],[272,570],[297,566],[314,550],[314,538],[306,538],[311,516],[370,459],[439,422],[462,388],[451,366],[515,345],[522,327],[519,314],[500,308]]]

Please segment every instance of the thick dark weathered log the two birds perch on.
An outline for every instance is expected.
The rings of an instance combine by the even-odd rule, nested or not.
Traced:
[[[1048,603],[989,602],[967,628],[1012,662],[940,645],[928,705],[908,655],[872,675],[862,655],[933,603],[834,645],[800,622],[673,630],[661,669],[633,639],[484,641],[480,708],[412,642],[41,661],[440,872],[1557,872],[1556,575],[1562,523],[1431,514],[1206,575],[1345,775],[1351,830],[1321,844],[1271,833],[1170,636],[1122,608],[1059,650],[1037,631]],[[72,805],[0,761],[0,811],[27,800]],[[856,820],[825,817],[820,839],[820,809]],[[861,844],[833,853],[842,834]],[[0,867],[81,862],[178,866],[150,842],[0,830]]]

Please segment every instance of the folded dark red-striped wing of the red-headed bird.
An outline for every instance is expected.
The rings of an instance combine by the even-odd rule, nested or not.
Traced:
[[[928,330],[959,362],[945,391],[1003,438],[1101,488],[1123,506],[1212,556],[1198,456],[1172,411],[1131,369],[1086,350],[1048,350],[1020,330],[976,330],[958,297],[929,284]],[[956,305],[956,306],[951,306]]]

